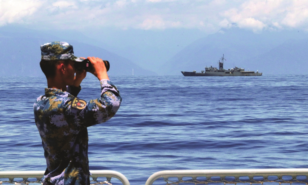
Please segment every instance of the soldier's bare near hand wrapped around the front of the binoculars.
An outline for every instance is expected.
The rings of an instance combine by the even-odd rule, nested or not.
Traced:
[[[109,80],[107,75],[107,69],[102,59],[95,57],[88,57],[87,59],[89,59],[92,64],[93,70],[91,71],[91,73],[94,76],[96,76],[99,80],[102,79]]]

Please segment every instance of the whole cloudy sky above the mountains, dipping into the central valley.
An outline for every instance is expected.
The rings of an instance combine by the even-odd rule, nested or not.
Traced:
[[[80,33],[92,39],[87,43],[151,69],[221,28],[239,27],[256,34],[307,32],[308,1],[0,0],[0,27],[8,25],[54,31],[63,38]]]

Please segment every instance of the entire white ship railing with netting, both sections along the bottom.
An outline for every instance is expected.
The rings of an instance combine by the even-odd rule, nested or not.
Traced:
[[[9,182],[15,184],[39,183],[45,171],[0,171],[0,179],[8,178],[9,181],[0,181],[0,184]],[[92,181],[97,182],[98,177],[106,177],[107,181],[97,182],[95,184],[109,184],[111,178],[119,179],[123,185],[130,185],[128,179],[121,173],[111,170],[92,170]],[[261,177],[261,178],[260,178]],[[151,175],[145,185],[152,185],[155,180],[163,178],[167,185],[179,183],[260,183],[265,182],[279,183],[304,183],[308,185],[308,168],[294,169],[243,169],[243,170],[166,170],[159,171]],[[22,178],[22,182],[14,181],[14,178]],[[36,181],[30,182],[28,178],[36,178]],[[176,181],[170,178],[177,178]],[[184,178],[184,179],[183,179]],[[186,178],[186,179],[185,179]]]

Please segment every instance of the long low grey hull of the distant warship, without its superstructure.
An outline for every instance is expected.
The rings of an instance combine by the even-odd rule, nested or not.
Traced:
[[[261,76],[261,72],[244,71],[244,72],[186,72],[181,71],[184,76]]]

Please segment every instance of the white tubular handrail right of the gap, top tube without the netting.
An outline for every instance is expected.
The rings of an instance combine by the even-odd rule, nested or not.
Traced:
[[[161,177],[215,177],[215,176],[283,176],[283,175],[308,175],[308,168],[286,169],[236,169],[236,170],[164,170],[152,174],[145,185],[152,185]]]

